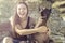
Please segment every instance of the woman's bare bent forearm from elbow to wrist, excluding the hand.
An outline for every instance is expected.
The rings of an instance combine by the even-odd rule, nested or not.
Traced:
[[[23,28],[20,27],[20,25],[16,25],[15,26],[15,31],[20,35],[27,35],[27,34],[36,33],[38,30],[37,29],[23,29]]]

